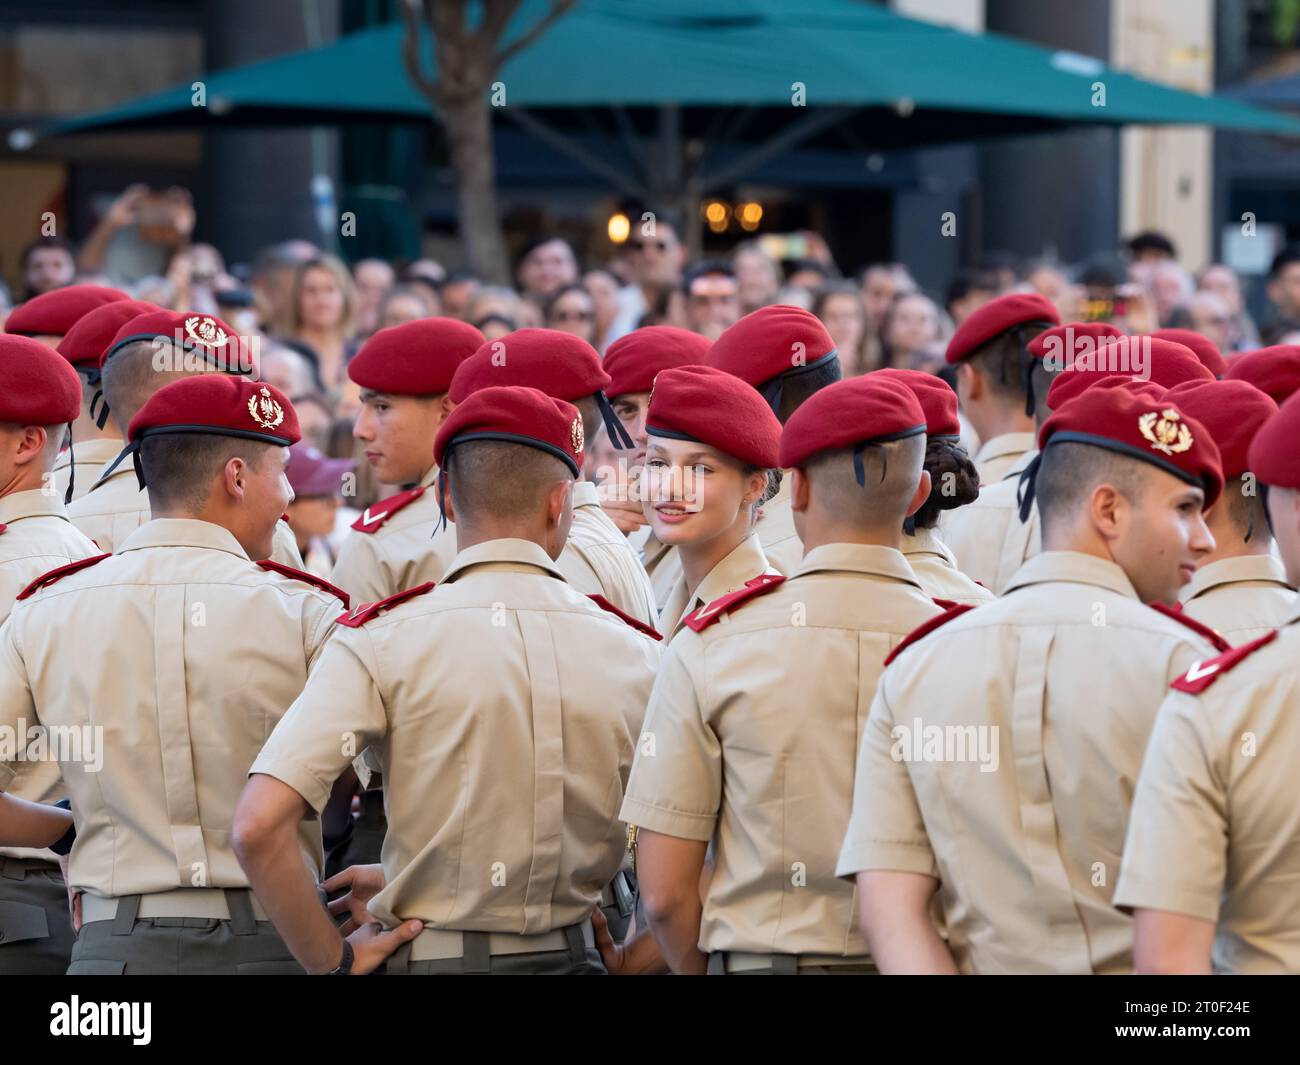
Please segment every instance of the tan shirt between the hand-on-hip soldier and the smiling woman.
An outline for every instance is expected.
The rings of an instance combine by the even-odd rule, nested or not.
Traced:
[[[584,596],[604,596],[624,614],[654,628],[654,588],[637,553],[601,507],[592,481],[573,485],[573,524],[559,558],[560,572]]]

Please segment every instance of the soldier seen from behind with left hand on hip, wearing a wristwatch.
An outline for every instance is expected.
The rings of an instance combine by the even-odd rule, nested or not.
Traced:
[[[589,917],[624,853],[658,636],[555,564],[581,445],[577,408],[536,389],[459,403],[434,450],[460,547],[442,583],[341,619],[254,765],[235,849],[308,971],[395,948],[389,974],[603,971]],[[382,867],[341,874],[346,940],[286,856],[351,759],[339,737],[380,762],[389,817]]]

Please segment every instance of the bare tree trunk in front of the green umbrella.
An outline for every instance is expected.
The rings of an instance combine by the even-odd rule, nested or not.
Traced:
[[[456,172],[458,222],[468,267],[484,281],[508,285],[510,264],[497,212],[497,160],[488,94],[446,100],[442,117]]]

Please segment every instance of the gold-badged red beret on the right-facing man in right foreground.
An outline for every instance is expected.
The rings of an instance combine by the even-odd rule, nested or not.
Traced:
[[[1210,432],[1144,386],[1088,389],[1053,411],[1039,430],[1039,449],[1070,442],[1105,447],[1199,485],[1206,508],[1223,492],[1223,466]]]

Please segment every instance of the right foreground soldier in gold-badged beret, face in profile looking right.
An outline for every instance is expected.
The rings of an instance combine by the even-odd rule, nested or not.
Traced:
[[[1063,404],[1039,443],[1043,554],[913,633],[871,705],[838,873],[885,973],[1132,966],[1110,905],[1128,797],[1165,689],[1214,650],[1144,603],[1213,549],[1223,475],[1200,424],[1124,385]]]

